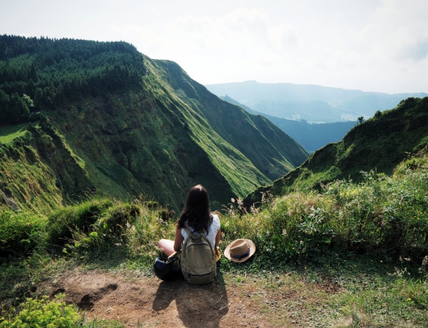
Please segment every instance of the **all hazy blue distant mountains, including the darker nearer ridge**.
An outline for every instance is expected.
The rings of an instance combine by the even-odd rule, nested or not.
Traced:
[[[357,123],[403,99],[427,93],[374,93],[325,86],[245,81],[206,86],[229,103],[262,115],[312,153],[341,140]]]

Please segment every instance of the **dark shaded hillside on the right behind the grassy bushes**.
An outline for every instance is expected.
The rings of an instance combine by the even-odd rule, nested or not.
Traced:
[[[362,180],[361,171],[392,173],[409,153],[428,146],[428,97],[408,98],[389,111],[352,128],[338,143],[317,150],[305,163],[266,187],[245,198],[250,206],[263,193],[284,195],[290,190],[318,188],[332,180]]]

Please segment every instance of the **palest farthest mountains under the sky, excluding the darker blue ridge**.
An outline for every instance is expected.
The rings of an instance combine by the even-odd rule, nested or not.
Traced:
[[[428,93],[377,93],[293,83],[245,81],[205,85],[217,96],[229,96],[253,111],[307,123],[357,122]]]

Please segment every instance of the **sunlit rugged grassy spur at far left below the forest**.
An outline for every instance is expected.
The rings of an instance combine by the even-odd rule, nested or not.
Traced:
[[[93,190],[85,163],[46,119],[7,130],[0,136],[0,205],[40,212]]]

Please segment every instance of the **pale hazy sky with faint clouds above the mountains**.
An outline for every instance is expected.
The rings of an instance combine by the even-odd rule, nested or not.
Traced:
[[[428,93],[427,0],[0,0],[0,34],[126,41],[203,84]]]

